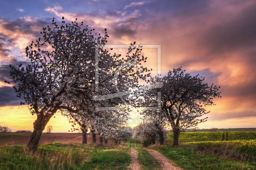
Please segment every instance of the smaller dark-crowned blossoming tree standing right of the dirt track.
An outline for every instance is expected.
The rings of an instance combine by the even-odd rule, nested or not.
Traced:
[[[163,87],[144,94],[143,105],[153,106],[157,103],[157,91],[161,92],[161,113],[172,126],[174,146],[179,144],[181,130],[194,128],[198,123],[206,121],[206,118],[198,119],[209,113],[202,106],[213,105],[212,99],[220,97],[220,87],[203,84],[204,78],[198,75],[192,77],[184,71],[181,68],[173,69],[163,78],[151,78],[151,84],[162,82]]]

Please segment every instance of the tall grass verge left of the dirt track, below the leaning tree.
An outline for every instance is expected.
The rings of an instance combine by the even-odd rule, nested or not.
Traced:
[[[0,170],[126,169],[131,158],[126,145],[43,144],[34,153],[25,145],[0,146]]]

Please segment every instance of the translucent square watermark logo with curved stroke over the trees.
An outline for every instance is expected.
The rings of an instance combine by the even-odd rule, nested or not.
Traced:
[[[131,45],[104,45],[104,48],[129,48]],[[161,76],[161,45],[140,45],[140,48],[157,48],[157,75]],[[147,85],[139,88],[135,88],[132,90],[127,90],[124,92],[120,92],[117,86],[117,78],[119,75],[119,72],[127,66],[134,67],[138,63],[133,62],[126,62],[123,63],[117,70],[114,75],[113,81],[116,87],[116,93],[114,94],[107,94],[102,96],[93,96],[93,100],[99,101],[99,100],[107,100],[107,99],[113,99],[116,97],[119,97],[124,105],[129,105],[124,99],[124,95],[131,94],[132,92],[143,92],[150,89],[156,89],[163,87],[162,82],[158,82],[154,85]],[[99,46],[95,46],[95,91],[99,92]],[[99,105],[95,105],[96,110],[120,110],[122,108],[120,107],[99,107]],[[157,107],[143,107],[144,110],[159,110],[161,109],[161,92],[157,92]]]

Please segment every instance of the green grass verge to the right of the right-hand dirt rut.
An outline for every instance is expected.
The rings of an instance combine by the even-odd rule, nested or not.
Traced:
[[[222,155],[210,154],[197,150],[197,147],[190,145],[175,146],[164,145],[154,146],[152,149],[164,154],[174,161],[178,166],[186,170],[248,170],[256,169],[256,161],[238,161],[225,158]]]

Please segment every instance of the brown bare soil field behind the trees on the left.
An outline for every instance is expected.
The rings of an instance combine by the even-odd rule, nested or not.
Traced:
[[[32,133],[16,133],[16,132],[1,132],[0,145],[3,144],[27,144]],[[90,137],[89,137],[90,136]],[[39,144],[45,143],[82,143],[82,133],[43,133]],[[96,134],[96,143],[100,142],[99,135]],[[108,144],[114,144],[113,139],[108,140]],[[87,143],[92,143],[92,135],[87,133]]]

